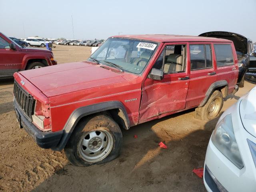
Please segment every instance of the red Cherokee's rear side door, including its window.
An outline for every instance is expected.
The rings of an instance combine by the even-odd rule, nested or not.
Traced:
[[[211,43],[189,44],[190,82],[186,98],[186,108],[198,106],[208,88],[217,80]]]

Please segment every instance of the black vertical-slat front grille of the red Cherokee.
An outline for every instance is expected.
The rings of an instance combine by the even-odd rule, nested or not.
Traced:
[[[17,104],[20,106],[24,114],[32,121],[32,114],[34,114],[35,100],[26,92],[17,82],[14,80],[13,88],[14,98]]]

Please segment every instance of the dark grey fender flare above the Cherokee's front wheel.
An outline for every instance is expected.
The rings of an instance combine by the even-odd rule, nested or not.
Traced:
[[[52,148],[52,150],[60,151],[66,146],[68,139],[70,138],[74,128],[76,127],[76,124],[79,122],[81,118],[88,116],[90,114],[103,112],[111,109],[119,109],[123,112],[124,117],[126,118],[126,123],[125,123],[126,129],[129,129],[130,121],[128,118],[128,114],[126,112],[126,109],[124,108],[124,105],[120,101],[102,102],[102,103],[80,107],[74,110],[72,114],[70,114],[63,128],[63,133],[62,133],[60,142],[56,147]]]

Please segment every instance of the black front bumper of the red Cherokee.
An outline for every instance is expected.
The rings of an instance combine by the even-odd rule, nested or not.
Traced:
[[[52,132],[52,131],[41,131],[39,130],[28,118],[25,116],[25,114],[22,112],[20,107],[18,106],[16,100],[13,101],[14,104],[14,110],[16,112],[17,120],[21,125],[21,128],[24,128],[32,138],[36,141],[38,146],[41,148],[55,148],[58,143],[60,142],[60,139],[62,137],[63,130]]]

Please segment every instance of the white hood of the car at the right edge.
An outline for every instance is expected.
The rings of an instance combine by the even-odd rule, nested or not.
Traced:
[[[254,87],[240,102],[240,117],[244,128],[256,137],[256,87]]]

